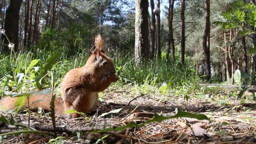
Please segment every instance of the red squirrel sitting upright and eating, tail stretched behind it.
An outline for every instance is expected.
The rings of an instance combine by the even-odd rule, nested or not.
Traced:
[[[119,78],[115,74],[115,67],[112,60],[106,55],[103,49],[101,35],[95,38],[95,49],[89,56],[83,67],[71,69],[61,83],[61,95],[63,101],[55,99],[55,112],[63,115],[69,109],[78,112],[90,112],[94,109],[98,101],[98,92],[104,91],[112,82]],[[17,97],[5,97],[0,100],[0,105],[6,109],[14,109]],[[50,110],[51,94],[46,94],[42,104],[43,95],[32,95],[29,99],[30,109],[36,110],[42,107]],[[33,103],[33,101],[39,101]],[[27,108],[27,100],[24,107]],[[68,117],[79,117],[77,113],[68,114]]]

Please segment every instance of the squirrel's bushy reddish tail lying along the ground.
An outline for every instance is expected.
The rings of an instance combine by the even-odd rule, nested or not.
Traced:
[[[0,100],[0,107],[6,108],[7,110],[14,109],[15,103],[17,101],[18,97],[5,97],[2,100]],[[43,101],[41,101],[43,99]],[[29,97],[29,106],[32,111],[36,111],[38,107],[42,107],[46,111],[50,111],[50,102],[51,102],[51,93],[43,95],[31,95]],[[55,113],[57,115],[63,115],[65,112],[65,108],[61,102],[61,100],[56,97],[55,101]],[[27,99],[24,103],[24,108],[28,108],[28,102]]]

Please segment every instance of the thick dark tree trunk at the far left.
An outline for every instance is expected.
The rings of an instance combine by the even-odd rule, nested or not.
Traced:
[[[5,14],[5,34],[10,40],[10,43],[14,44],[14,51],[18,51],[19,48],[19,10],[22,0],[10,0],[10,4]],[[4,44],[8,45],[8,40],[4,40]],[[8,46],[4,47],[4,52],[8,53]]]

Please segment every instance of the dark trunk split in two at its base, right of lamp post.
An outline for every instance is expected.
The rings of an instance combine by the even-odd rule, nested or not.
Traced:
[[[168,32],[168,48],[166,51],[166,61],[169,61],[169,52],[171,49],[172,63],[175,64],[175,47],[174,47],[174,38],[173,38],[173,5],[174,5],[174,0],[170,0],[169,1],[169,11],[168,11],[169,32]]]

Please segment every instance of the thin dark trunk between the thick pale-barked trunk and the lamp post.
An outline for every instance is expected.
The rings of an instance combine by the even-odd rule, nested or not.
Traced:
[[[150,59],[154,60],[155,56],[155,14],[153,10],[155,8],[154,0],[150,0],[151,5],[151,24],[150,24]]]

